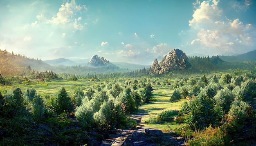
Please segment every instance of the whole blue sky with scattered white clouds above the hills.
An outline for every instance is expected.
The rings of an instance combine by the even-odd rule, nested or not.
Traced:
[[[255,0],[0,0],[0,49],[31,58],[148,65],[173,49],[256,49]]]

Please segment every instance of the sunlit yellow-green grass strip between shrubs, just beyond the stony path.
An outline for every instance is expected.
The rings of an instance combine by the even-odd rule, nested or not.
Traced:
[[[157,116],[163,110],[180,110],[180,106],[184,100],[178,102],[171,102],[170,97],[173,93],[173,89],[168,88],[154,88],[153,97],[155,101],[146,105],[140,106],[141,110],[144,110],[148,115],[145,116],[149,118],[151,116]],[[143,120],[144,122],[144,120]],[[164,124],[144,124],[149,128],[155,128],[162,131],[174,130],[178,126],[176,122],[166,122]]]

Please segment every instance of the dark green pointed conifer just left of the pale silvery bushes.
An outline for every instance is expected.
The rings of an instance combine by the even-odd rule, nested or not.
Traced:
[[[74,105],[71,98],[67,95],[64,87],[62,87],[56,98],[56,113],[61,114],[63,112],[71,113],[74,110]]]

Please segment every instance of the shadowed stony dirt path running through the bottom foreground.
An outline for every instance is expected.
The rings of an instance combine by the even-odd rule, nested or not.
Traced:
[[[184,139],[173,132],[164,133],[160,130],[149,128],[142,121],[148,113],[141,111],[140,113],[130,115],[132,119],[137,121],[138,126],[132,129],[118,129],[111,131],[109,139],[104,139],[100,146],[181,146]]]

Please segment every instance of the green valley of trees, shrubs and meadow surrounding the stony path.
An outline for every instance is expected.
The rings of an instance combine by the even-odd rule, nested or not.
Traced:
[[[151,68],[69,74],[30,66],[0,74],[0,145],[101,145],[113,130],[136,128],[131,115],[141,111],[148,127],[171,131],[182,144],[255,144],[255,62],[195,56],[189,63],[162,75]]]

